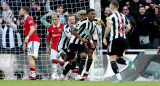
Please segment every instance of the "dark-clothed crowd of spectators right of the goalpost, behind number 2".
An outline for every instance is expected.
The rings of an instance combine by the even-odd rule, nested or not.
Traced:
[[[111,14],[111,0],[101,0],[102,20]],[[118,0],[119,12],[126,15],[132,30],[128,34],[131,49],[157,49],[160,45],[159,0]]]

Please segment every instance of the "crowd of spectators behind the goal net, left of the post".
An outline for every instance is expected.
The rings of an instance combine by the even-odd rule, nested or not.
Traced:
[[[51,15],[58,14],[60,23],[67,24],[67,15],[76,14],[81,9],[88,9],[89,0],[0,0],[0,51],[2,53],[22,51],[25,36],[23,20],[18,13],[22,6],[30,7],[29,15],[35,20],[37,34],[41,39],[40,51],[45,52],[46,33]]]

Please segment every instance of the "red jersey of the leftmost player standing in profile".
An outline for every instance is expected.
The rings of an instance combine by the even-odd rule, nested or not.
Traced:
[[[35,26],[34,20],[32,17],[27,16],[24,19],[24,24],[23,24],[23,29],[24,29],[24,33],[25,33],[25,37],[28,36],[29,32],[30,32],[30,27],[31,26]],[[41,42],[40,38],[38,37],[36,31],[34,31],[34,33],[32,34],[32,36],[29,38],[28,43],[31,41],[37,41],[37,42]]]

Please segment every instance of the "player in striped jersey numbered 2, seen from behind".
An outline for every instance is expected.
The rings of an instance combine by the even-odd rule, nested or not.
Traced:
[[[123,52],[128,49],[126,33],[130,31],[130,25],[125,15],[118,12],[118,8],[119,3],[116,0],[110,3],[112,15],[107,18],[107,28],[105,30],[103,43],[104,45],[108,45],[106,37],[110,33],[109,56],[111,67],[113,72],[116,74],[116,82],[123,82],[116,62],[119,64],[129,65],[132,71],[135,71],[135,66],[131,60],[126,61],[121,58],[121,56],[123,56]]]

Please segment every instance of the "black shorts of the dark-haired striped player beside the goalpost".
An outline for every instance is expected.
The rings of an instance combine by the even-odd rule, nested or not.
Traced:
[[[75,55],[78,53],[86,53],[87,54],[87,48],[85,45],[79,45],[79,44],[70,44],[69,48],[67,50],[67,55],[69,56],[68,60],[74,59]]]

